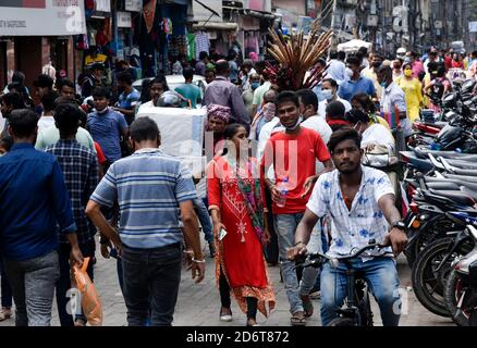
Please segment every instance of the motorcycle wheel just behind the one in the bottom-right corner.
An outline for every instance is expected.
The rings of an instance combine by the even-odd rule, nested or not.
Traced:
[[[417,258],[413,273],[412,282],[414,293],[419,302],[432,313],[449,318],[448,307],[444,299],[444,286],[451,269],[453,257],[449,258],[445,265],[439,271],[436,269],[445,256],[448,248],[454,243],[453,238],[441,238],[429,244]],[[473,249],[468,244],[464,244],[456,256],[466,254]]]

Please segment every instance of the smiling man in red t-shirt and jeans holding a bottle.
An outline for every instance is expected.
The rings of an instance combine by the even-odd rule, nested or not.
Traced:
[[[274,133],[265,147],[261,161],[262,185],[268,186],[273,201],[280,265],[292,313],[291,323],[305,325],[304,306],[309,309],[310,302],[308,299],[307,303],[303,303],[299,297],[296,272],[294,264],[286,258],[286,251],[294,245],[296,226],[305,213],[313,185],[320,175],[316,174],[316,161],[323,163],[323,173],[331,171],[333,165],[321,136],[299,125],[297,95],[282,91],[276,99],[276,105],[280,123],[285,129]],[[274,182],[268,177],[271,166]],[[283,188],[286,189],[285,197],[282,197]],[[283,198],[285,203],[280,204]]]

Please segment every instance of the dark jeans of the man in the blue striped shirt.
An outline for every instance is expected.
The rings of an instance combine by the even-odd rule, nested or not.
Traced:
[[[155,249],[123,245],[122,266],[127,324],[171,326],[181,282],[182,248],[174,244]]]

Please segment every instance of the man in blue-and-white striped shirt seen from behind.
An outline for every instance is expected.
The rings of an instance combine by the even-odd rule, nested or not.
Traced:
[[[197,195],[191,172],[158,149],[160,134],[152,120],[140,117],[130,130],[134,154],[110,166],[86,213],[122,256],[129,325],[144,325],[150,310],[152,325],[169,326],[181,281],[183,235],[194,251],[192,277],[198,276],[196,283],[204,279],[205,260],[193,207]],[[100,211],[115,200],[119,234]]]

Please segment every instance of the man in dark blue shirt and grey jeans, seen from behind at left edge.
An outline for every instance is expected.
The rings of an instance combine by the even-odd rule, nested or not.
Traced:
[[[60,235],[68,236],[72,261],[83,264],[60,165],[33,146],[37,123],[35,112],[13,111],[9,133],[14,145],[0,158],[0,253],[16,304],[16,326],[50,325],[60,274],[57,224]]]

